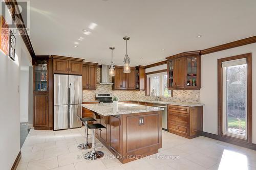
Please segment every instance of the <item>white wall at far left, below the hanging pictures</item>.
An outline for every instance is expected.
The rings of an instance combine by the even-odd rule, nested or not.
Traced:
[[[1,169],[11,169],[19,151],[19,81],[20,81],[20,53],[32,59],[27,48],[18,35],[16,37],[15,61],[0,50],[0,165]]]

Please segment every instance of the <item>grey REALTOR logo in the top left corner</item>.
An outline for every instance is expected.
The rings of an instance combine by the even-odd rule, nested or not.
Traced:
[[[14,35],[29,35],[30,1],[1,0],[1,12]]]

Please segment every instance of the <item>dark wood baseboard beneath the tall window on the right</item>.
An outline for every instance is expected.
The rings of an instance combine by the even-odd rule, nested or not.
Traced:
[[[227,143],[231,143],[231,144],[235,144],[235,145],[238,145],[239,147],[244,147],[244,148],[248,148],[248,149],[256,151],[256,144],[255,143],[246,144],[246,143],[226,140],[226,139],[221,138],[219,135],[208,133],[208,132],[203,132],[202,136],[205,136],[205,137],[208,137],[208,138],[211,138],[211,139],[220,140],[220,141],[227,142]]]

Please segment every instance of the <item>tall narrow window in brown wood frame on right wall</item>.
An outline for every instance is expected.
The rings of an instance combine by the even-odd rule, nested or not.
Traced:
[[[218,60],[219,135],[251,143],[251,55]]]

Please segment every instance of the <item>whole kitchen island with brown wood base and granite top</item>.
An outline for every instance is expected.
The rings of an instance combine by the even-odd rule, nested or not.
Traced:
[[[162,148],[162,108],[120,102],[84,104],[106,129],[95,136],[122,163],[158,153]],[[96,122],[94,122],[96,123]]]

